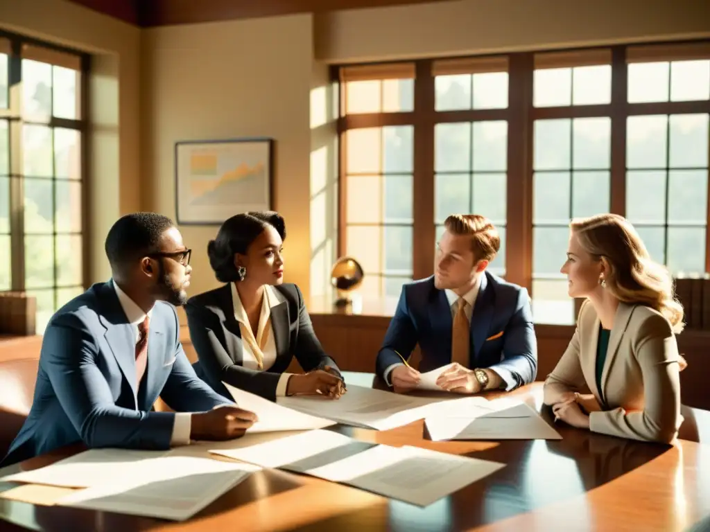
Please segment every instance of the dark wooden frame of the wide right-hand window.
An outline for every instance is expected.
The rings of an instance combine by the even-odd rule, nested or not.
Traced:
[[[415,64],[414,110],[407,113],[368,113],[347,115],[342,109],[337,120],[339,135],[339,213],[338,213],[338,255],[343,256],[347,249],[347,187],[345,179],[346,150],[344,150],[344,132],[353,128],[381,127],[395,125],[414,126],[414,172],[413,172],[413,277],[422,279],[432,275],[435,250],[430,245],[435,240],[435,138],[436,123],[470,122],[489,119],[501,119],[505,113],[508,121],[508,165],[507,165],[507,204],[506,204],[506,279],[519,284],[530,292],[532,300],[532,201],[533,201],[533,128],[535,120],[546,118],[611,118],[610,140],[610,212],[626,216],[626,122],[630,116],[653,114],[710,114],[710,100],[705,101],[669,101],[653,103],[628,103],[628,64],[627,52],[630,49],[643,50],[648,47],[652,54],[656,47],[677,47],[682,50],[710,46],[710,39],[674,41],[673,43],[633,43],[630,45],[587,46],[555,50],[555,52],[608,53],[611,52],[611,101],[608,104],[586,104],[569,106],[535,107],[533,105],[533,72],[535,55],[547,54],[550,50],[513,52],[510,54],[472,55],[466,57],[440,57],[436,59],[408,60]],[[433,65],[441,60],[460,60],[470,57],[508,58],[508,109],[435,111],[435,76]],[[679,58],[670,60],[682,60]],[[709,57],[710,58],[710,57]],[[663,59],[667,60],[667,59]],[[390,62],[393,64],[395,62]],[[364,65],[387,65],[388,63],[358,63],[333,65],[332,82],[340,81],[340,72],[344,67]],[[579,65],[584,66],[584,65]],[[344,84],[340,84],[339,94],[344,94]],[[710,147],[709,147],[710,150]],[[710,171],[709,171],[710,174]],[[710,182],[710,175],[708,176]],[[666,199],[667,201],[667,199]],[[706,214],[705,270],[710,272],[710,192]],[[668,221],[666,219],[666,226]],[[667,246],[667,241],[665,243]],[[560,265],[562,265],[562,257]],[[581,301],[576,300],[579,309]],[[577,313],[574,313],[576,321]]]

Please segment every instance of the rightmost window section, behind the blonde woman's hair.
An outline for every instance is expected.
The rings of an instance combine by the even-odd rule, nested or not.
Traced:
[[[634,47],[626,59],[628,103],[648,104],[626,123],[626,216],[672,273],[705,272],[710,54]]]

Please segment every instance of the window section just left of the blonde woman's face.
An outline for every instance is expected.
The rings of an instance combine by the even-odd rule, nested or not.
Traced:
[[[574,321],[574,300],[559,271],[569,221],[610,209],[611,118],[561,117],[574,116],[574,106],[611,101],[611,53],[537,54],[533,79],[533,106],[556,109],[555,118],[532,124],[532,313],[539,323],[564,324]]]

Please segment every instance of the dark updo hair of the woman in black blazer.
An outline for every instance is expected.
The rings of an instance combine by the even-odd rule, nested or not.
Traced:
[[[241,281],[242,277],[234,265],[234,255],[246,255],[249,245],[261,235],[266,226],[273,227],[281,240],[285,240],[283,216],[275,211],[236,214],[222,223],[217,238],[209,240],[207,244],[209,265],[219,282]]]

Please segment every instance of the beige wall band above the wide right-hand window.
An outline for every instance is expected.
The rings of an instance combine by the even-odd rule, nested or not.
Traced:
[[[315,19],[315,57],[359,62],[710,35],[707,0],[460,0]]]

